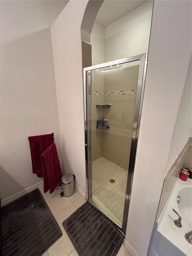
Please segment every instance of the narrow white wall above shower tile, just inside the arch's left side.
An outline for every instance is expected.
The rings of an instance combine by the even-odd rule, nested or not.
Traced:
[[[105,62],[105,28],[94,23],[91,32],[92,65]]]

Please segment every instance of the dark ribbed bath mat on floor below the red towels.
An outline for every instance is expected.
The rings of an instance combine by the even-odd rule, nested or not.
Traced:
[[[4,206],[1,225],[4,256],[42,255],[62,236],[38,189]]]

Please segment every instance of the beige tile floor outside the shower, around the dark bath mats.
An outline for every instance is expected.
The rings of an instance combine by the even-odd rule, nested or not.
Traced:
[[[56,221],[58,222],[63,235],[59,238],[44,254],[43,256],[78,256],[70,238],[68,237],[62,222],[76,211],[86,201],[75,190],[75,193],[70,197],[61,197],[61,190],[55,190],[52,194],[43,193],[43,186],[40,188],[46,203],[51,209]],[[131,256],[122,244],[117,256]]]

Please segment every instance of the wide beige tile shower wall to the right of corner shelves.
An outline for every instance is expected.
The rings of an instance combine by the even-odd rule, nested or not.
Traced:
[[[102,156],[125,170],[129,166],[136,93],[123,91],[137,90],[138,73],[136,65],[106,72],[104,76],[104,104],[111,103],[111,107],[104,116],[110,129],[103,131]]]

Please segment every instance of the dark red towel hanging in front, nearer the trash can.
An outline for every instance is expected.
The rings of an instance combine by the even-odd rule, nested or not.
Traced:
[[[50,189],[50,194],[55,190],[56,185],[61,181],[62,173],[57,155],[55,143],[52,143],[48,149],[41,155],[44,193]]]

